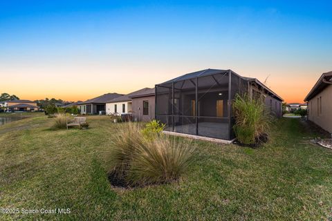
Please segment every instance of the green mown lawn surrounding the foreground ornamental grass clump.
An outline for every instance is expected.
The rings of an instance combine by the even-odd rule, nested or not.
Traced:
[[[332,217],[332,151],[308,142],[298,119],[280,119],[258,149],[194,142],[177,183],[113,189],[103,156],[115,124],[53,130],[35,115],[0,126],[0,207],[69,208],[69,214],[0,214],[0,220],[326,220]]]

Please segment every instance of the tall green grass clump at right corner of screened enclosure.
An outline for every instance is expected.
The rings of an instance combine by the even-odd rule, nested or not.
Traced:
[[[248,94],[236,95],[233,102],[235,117],[234,133],[239,142],[255,144],[261,135],[268,133],[272,117],[266,111],[261,98],[252,99]]]

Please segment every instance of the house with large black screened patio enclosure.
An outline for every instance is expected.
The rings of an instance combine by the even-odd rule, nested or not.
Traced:
[[[264,99],[271,114],[282,116],[283,99],[259,80],[206,69],[157,84],[156,119],[165,131],[233,140],[232,100],[243,93]]]

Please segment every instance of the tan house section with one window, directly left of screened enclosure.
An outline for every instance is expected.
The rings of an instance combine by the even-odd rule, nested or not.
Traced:
[[[154,91],[155,88],[144,88],[140,93],[129,96],[134,121],[149,122],[154,119],[156,99]]]

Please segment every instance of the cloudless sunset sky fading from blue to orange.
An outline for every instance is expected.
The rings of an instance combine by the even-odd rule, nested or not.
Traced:
[[[77,101],[206,68],[303,102],[332,70],[332,1],[0,1],[0,93]]]

